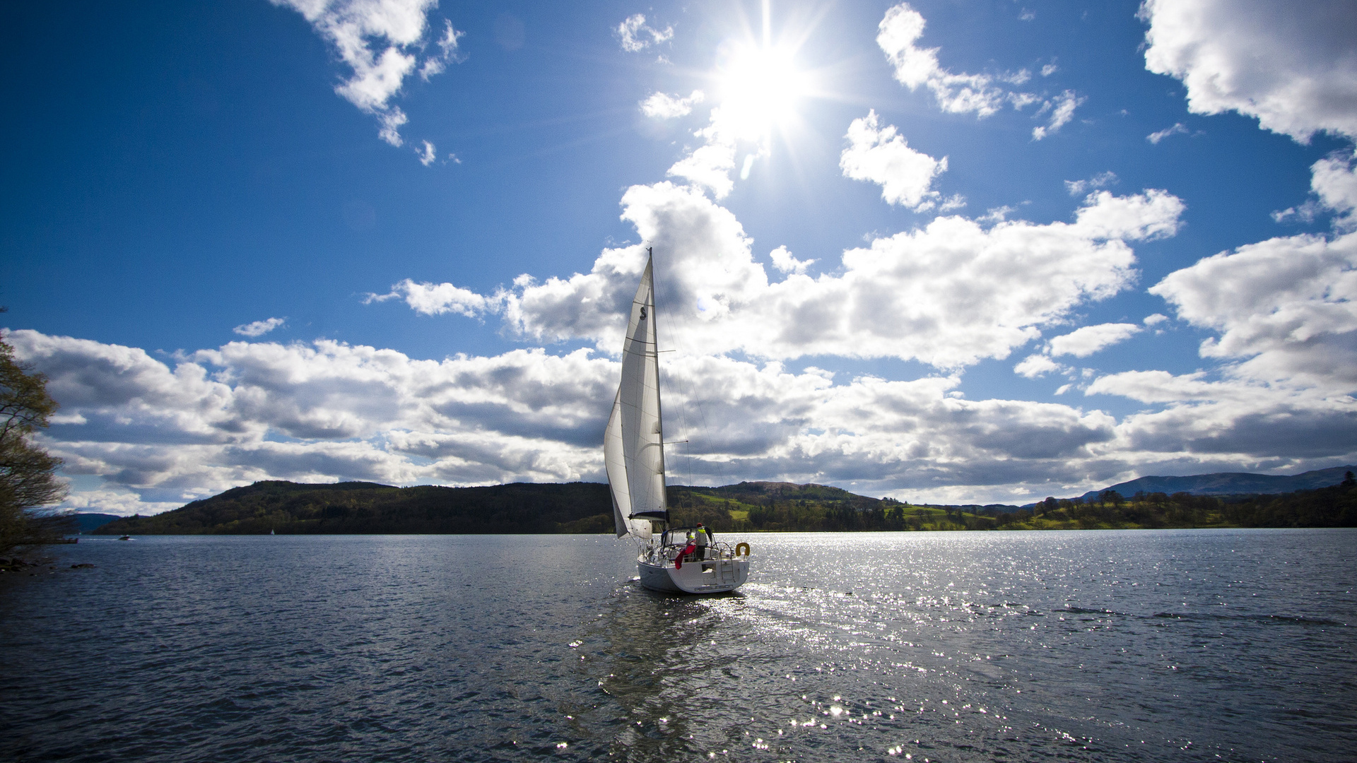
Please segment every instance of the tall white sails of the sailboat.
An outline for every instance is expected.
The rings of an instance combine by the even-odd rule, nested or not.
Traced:
[[[603,437],[617,538],[650,538],[650,520],[668,520],[665,451],[660,428],[660,356],[655,352],[654,259],[631,300],[622,349],[622,384]]]

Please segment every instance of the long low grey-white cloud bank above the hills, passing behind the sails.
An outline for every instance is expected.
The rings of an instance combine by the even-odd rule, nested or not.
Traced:
[[[45,441],[68,474],[103,479],[69,505],[115,513],[153,513],[256,479],[601,479],[619,373],[589,350],[422,361],[342,342],[232,342],[170,368],[136,348],[37,331],[9,339],[84,421],[54,425]],[[909,483],[943,498],[962,485],[973,496],[973,486],[1109,471],[1092,452],[1115,437],[1115,421],[1099,411],[966,401],[954,376],[835,383],[776,362],[670,358],[666,409],[700,409],[708,422],[684,430],[684,417],[668,420],[673,437],[689,440],[670,452],[672,467],[697,483]]]

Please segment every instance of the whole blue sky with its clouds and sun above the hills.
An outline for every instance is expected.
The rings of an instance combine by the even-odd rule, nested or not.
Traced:
[[[601,481],[645,246],[670,482],[1357,460],[1348,3],[3,12],[0,303],[68,506]]]

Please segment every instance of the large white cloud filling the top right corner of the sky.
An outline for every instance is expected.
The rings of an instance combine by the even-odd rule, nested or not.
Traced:
[[[1357,137],[1357,5],[1145,0],[1145,68],[1187,87],[1194,114],[1238,111],[1308,143]]]

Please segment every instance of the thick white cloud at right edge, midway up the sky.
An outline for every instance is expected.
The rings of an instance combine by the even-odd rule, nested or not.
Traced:
[[[1288,236],[1220,253],[1151,286],[1178,318],[1220,338],[1202,357],[1239,379],[1357,390],[1357,234]]]

